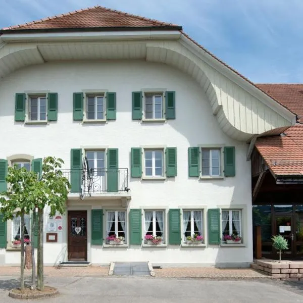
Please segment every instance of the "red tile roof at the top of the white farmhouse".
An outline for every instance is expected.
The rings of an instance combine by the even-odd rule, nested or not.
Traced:
[[[95,6],[67,14],[10,26],[2,30],[37,30],[66,28],[108,28],[108,27],[180,27],[175,24],[148,19],[108,8]],[[181,27],[180,27],[181,29]]]

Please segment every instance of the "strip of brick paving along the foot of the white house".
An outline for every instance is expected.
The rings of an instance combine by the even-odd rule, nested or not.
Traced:
[[[45,277],[109,277],[109,267],[44,267]],[[252,279],[271,278],[250,268],[219,269],[214,267],[201,268],[163,268],[155,269],[156,278],[206,278],[206,279]],[[30,276],[31,270],[25,270]],[[0,267],[0,276],[20,276],[19,267]]]

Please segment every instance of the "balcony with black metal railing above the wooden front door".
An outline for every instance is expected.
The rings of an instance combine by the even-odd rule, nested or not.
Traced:
[[[127,168],[61,170],[71,183],[69,197],[130,197]]]

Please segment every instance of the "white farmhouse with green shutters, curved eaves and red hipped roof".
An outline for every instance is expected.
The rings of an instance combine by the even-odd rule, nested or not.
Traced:
[[[46,156],[71,182],[45,265],[248,266],[247,141],[294,123],[178,25],[93,7],[0,31],[0,190]],[[0,264],[19,239],[20,218],[0,223]]]

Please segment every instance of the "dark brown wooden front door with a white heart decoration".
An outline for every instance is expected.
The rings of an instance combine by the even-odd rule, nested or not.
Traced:
[[[68,212],[68,261],[87,261],[87,212]]]

